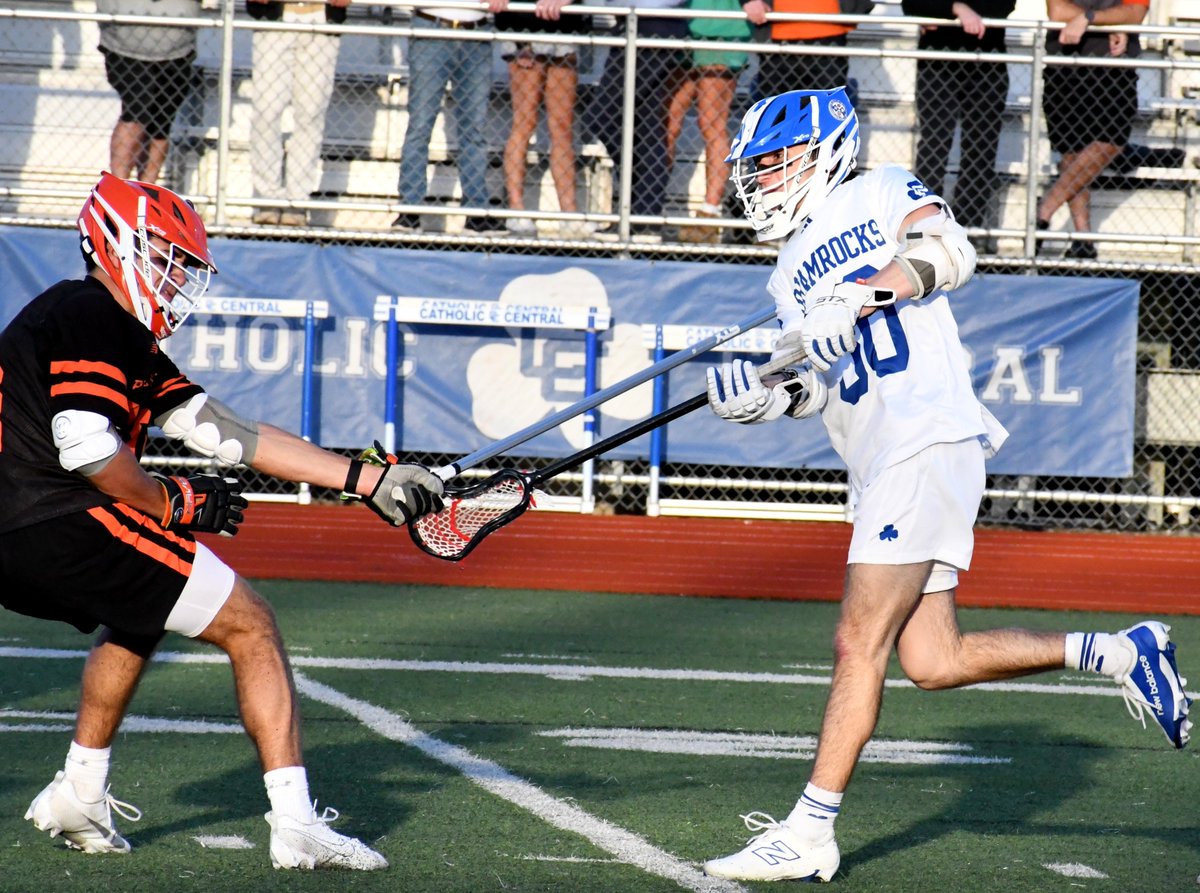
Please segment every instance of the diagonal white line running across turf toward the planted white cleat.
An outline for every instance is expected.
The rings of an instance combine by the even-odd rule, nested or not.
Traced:
[[[457,744],[448,744],[432,735],[426,735],[383,707],[344,695],[329,685],[310,679],[304,673],[295,673],[295,681],[296,689],[307,697],[344,711],[389,741],[416,748],[426,756],[461,772],[484,790],[533,813],[556,828],[587,838],[599,849],[629,865],[666,877],[697,893],[707,891],[736,893],[744,889],[730,881],[706,877],[692,863],[664,852],[644,838],[598,819],[572,803],[552,797],[491,760],[475,756]]]

